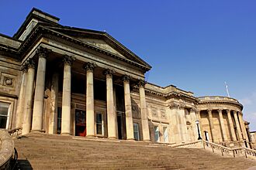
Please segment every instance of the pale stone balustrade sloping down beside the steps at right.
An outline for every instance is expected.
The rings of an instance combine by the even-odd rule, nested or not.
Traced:
[[[245,158],[254,158],[256,159],[256,150],[250,148],[228,148],[223,145],[218,145],[209,141],[193,141],[186,144],[181,145],[173,145],[172,147],[175,148],[189,148],[195,145],[200,145],[204,149],[211,150],[213,152],[219,153],[221,155],[232,155],[233,157],[236,156],[245,156]],[[199,147],[194,147],[199,148]]]

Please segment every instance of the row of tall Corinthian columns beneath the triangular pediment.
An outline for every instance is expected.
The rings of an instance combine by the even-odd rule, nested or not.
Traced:
[[[36,71],[36,83],[34,86],[35,63],[33,59],[28,59],[25,63],[26,70],[23,74],[26,75],[26,80],[22,81],[21,88],[26,89],[24,94],[26,106],[23,109],[22,134],[28,134],[31,131],[43,131],[43,97],[45,87],[45,73],[47,65],[47,56],[49,50],[40,47],[36,50],[38,56],[38,64]],[[62,91],[62,117],[61,117],[61,134],[71,134],[71,70],[74,57],[63,56],[64,62],[64,78]],[[85,63],[86,70],[86,136],[95,136],[95,107],[94,107],[94,86],[93,72],[95,64]],[[113,93],[113,70],[105,70],[106,75],[106,110],[107,110],[107,128],[108,138],[117,138],[117,121],[116,110],[114,107]],[[26,87],[23,83],[26,83]],[[140,91],[140,113],[141,124],[143,131],[143,140],[150,141],[146,97],[144,90],[144,80],[138,83]],[[125,115],[126,115],[126,138],[133,140],[133,116],[130,97],[130,76],[123,75]],[[34,96],[33,89],[35,88]],[[24,89],[21,89],[24,91]],[[22,103],[22,102],[20,102]],[[33,106],[33,109],[32,109]],[[21,107],[21,106],[18,106]],[[20,114],[20,113],[19,113]],[[20,124],[20,123],[19,123]]]

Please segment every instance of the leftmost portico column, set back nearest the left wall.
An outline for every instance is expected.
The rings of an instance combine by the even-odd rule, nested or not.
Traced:
[[[19,90],[18,106],[16,111],[16,128],[22,128],[22,118],[25,112],[24,100],[26,95],[27,66],[22,66],[22,82]]]

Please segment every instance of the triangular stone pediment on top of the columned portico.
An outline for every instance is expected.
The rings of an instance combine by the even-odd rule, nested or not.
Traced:
[[[140,66],[144,66],[147,68],[146,70],[150,70],[151,68],[151,66],[143,59],[140,59],[139,56],[131,52],[130,49],[127,49],[106,32],[90,29],[78,29],[68,26],[50,26],[48,28],[57,32],[61,32],[64,35],[73,37],[74,39],[95,46],[121,58],[128,59],[134,63],[139,64]]]

